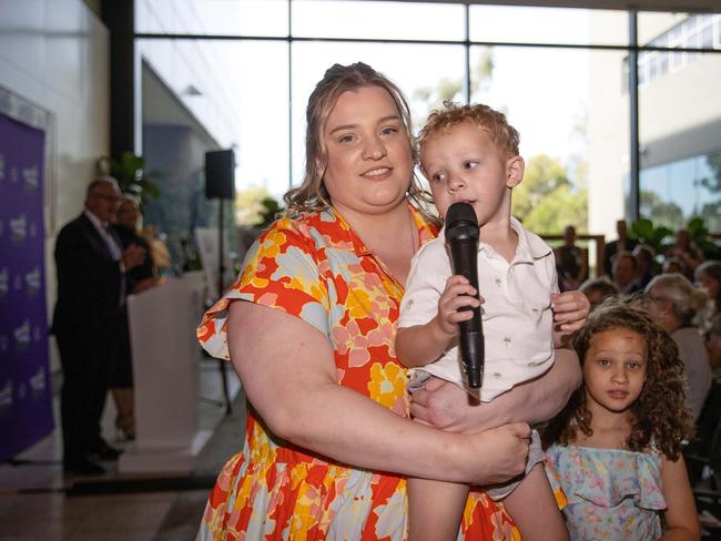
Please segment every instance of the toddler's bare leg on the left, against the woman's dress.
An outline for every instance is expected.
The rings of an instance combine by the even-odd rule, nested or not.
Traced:
[[[408,541],[455,541],[468,486],[408,479]]]

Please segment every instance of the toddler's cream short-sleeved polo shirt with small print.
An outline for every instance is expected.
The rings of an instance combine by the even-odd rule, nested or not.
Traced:
[[[554,252],[538,235],[511,217],[518,235],[509,264],[487,244],[478,246],[478,289],[486,299],[481,319],[486,359],[480,394],[465,386],[458,347],[422,368],[453,381],[483,401],[536,378],[554,364],[550,294],[558,292]],[[425,325],[438,313],[438,298],[451,276],[444,232],[424,245],[410,264],[398,327]]]

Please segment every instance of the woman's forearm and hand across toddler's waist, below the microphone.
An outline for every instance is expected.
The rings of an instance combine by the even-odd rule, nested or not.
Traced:
[[[413,394],[410,414],[422,422],[457,432],[475,432],[507,422],[540,422],[558,414],[581,384],[578,357],[556,351],[554,366],[541,377],[514,387],[490,402],[470,402],[453,384],[430,379]]]

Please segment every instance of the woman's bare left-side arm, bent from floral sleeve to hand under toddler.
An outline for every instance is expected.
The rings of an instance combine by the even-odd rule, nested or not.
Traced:
[[[248,400],[292,443],[355,467],[455,482],[488,484],[524,470],[527,426],[474,436],[436,430],[339,386],[327,339],[302,319],[235,302],[227,326]]]

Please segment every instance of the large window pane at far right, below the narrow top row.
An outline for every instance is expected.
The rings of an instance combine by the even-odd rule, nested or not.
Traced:
[[[639,93],[641,214],[678,228],[695,215],[721,231],[721,55],[698,53]],[[669,112],[673,113],[670,114]]]

